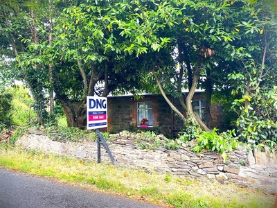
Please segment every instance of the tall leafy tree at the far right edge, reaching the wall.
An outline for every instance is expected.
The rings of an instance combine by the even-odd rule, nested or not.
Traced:
[[[238,71],[229,74],[235,84],[233,93],[242,94],[234,101],[233,109],[239,115],[237,126],[242,140],[265,140],[272,146],[277,141],[277,5],[274,1],[249,2],[245,7],[251,13],[249,19],[239,25],[247,43],[240,43]]]

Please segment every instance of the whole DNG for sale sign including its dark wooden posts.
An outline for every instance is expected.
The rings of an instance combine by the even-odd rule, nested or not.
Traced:
[[[105,139],[100,134],[99,128],[107,127],[107,98],[106,97],[97,97],[97,96],[87,96],[87,129],[96,129],[98,135],[97,139],[97,162],[101,162],[101,153],[100,153],[100,143],[103,144],[111,162],[116,165],[116,159],[111,155],[111,151],[105,141]]]

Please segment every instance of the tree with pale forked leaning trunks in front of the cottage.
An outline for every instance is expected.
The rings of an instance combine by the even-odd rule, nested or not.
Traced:
[[[240,38],[235,31],[235,26],[240,12],[244,12],[243,4],[235,6],[226,1],[170,1],[170,3],[131,1],[129,5],[131,5],[130,13],[132,10],[136,13],[129,15],[127,21],[120,21],[120,28],[124,28],[121,34],[132,40],[132,44],[127,49],[135,51],[140,56],[141,53],[152,55],[152,51],[157,52],[154,61],[151,60],[148,67],[152,69],[152,75],[157,81],[161,94],[165,98],[166,94],[179,97],[187,111],[188,119],[193,119],[194,123],[208,131],[206,124],[194,112],[191,100],[195,89],[199,87],[200,76],[205,76],[206,71],[208,75],[211,74],[212,67],[215,67],[219,60],[229,60],[235,50],[235,46],[230,42]],[[213,58],[215,50],[219,47],[221,47],[221,53]],[[172,73],[172,69],[176,70],[176,67],[172,65],[169,67],[168,63],[164,64],[161,61],[164,58],[164,53],[159,53],[161,48],[167,48],[167,57],[178,49],[177,60],[175,60],[180,64],[178,73]],[[187,79],[184,77],[185,74],[188,75]],[[208,77],[206,90],[211,91],[211,86],[211,79]],[[183,101],[181,92],[184,87],[190,89],[186,101]],[[209,101],[211,93],[207,94],[209,94]],[[170,103],[168,98],[166,101],[181,119],[185,120],[185,116]],[[206,114],[208,115],[208,111]]]

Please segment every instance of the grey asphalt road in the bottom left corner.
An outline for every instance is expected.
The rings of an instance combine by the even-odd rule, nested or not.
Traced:
[[[157,208],[144,202],[0,169],[0,208]]]

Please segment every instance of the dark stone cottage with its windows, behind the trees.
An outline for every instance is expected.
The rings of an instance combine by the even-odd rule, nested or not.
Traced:
[[[179,101],[168,96],[183,114]],[[108,96],[108,127],[107,132],[120,132],[122,130],[154,130],[166,137],[174,138],[183,128],[183,121],[170,108],[161,95],[145,94],[140,99],[133,95]],[[195,92],[193,97],[195,109],[204,119],[205,96],[203,92]],[[211,116],[214,127],[220,128],[222,120],[222,107],[217,103],[211,104]],[[142,128],[141,120],[147,118],[148,127]]]

